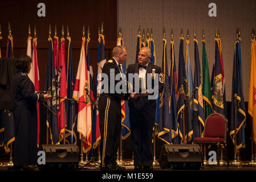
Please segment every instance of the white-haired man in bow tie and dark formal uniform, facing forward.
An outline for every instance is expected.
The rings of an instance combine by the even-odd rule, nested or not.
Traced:
[[[130,64],[127,68],[127,79],[128,82],[132,82],[135,92],[138,86],[136,85],[138,84],[136,76],[139,76],[137,80],[139,80],[140,92],[144,90],[144,93],[137,93],[140,97],[128,100],[135,170],[153,169],[152,133],[156,116],[156,98],[162,92],[164,82],[161,68],[151,64],[150,60],[151,50],[148,47],[143,47],[139,52],[139,63]],[[133,78],[131,78],[131,74],[129,77],[129,73],[133,74]],[[153,85],[150,84],[150,80]],[[149,92],[150,88],[154,90],[158,88],[157,93],[153,93],[156,97],[152,98],[152,93]]]

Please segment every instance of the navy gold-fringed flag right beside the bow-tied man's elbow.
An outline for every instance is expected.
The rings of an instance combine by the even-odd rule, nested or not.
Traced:
[[[159,105],[159,134],[158,138],[165,143],[170,144],[172,142],[172,121],[170,120],[170,106],[169,106],[169,75],[168,75],[168,61],[166,55],[166,39],[162,50],[162,73],[164,74],[165,86],[160,93],[160,105]]]

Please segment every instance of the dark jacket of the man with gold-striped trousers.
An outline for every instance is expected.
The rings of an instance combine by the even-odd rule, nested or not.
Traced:
[[[111,69],[115,73],[114,77],[111,77],[111,74],[110,74]],[[122,78],[120,78],[119,80],[115,80],[116,75],[120,73],[120,69],[119,69],[118,65],[116,64],[115,59],[112,58],[112,59],[108,60],[104,64],[101,73],[105,73],[108,76],[108,92],[101,93],[101,94],[103,94],[109,98],[112,98],[113,100],[119,101],[119,102],[121,100],[126,100],[129,96],[128,89],[126,89],[125,93],[117,93],[116,89],[115,89],[116,84],[122,80]],[[104,78],[102,79],[102,81],[103,80],[104,80]],[[123,81],[125,81],[125,80],[123,80]],[[112,85],[111,85],[111,83],[112,83]],[[125,81],[125,85],[128,86],[127,81]],[[104,88],[104,86],[103,86],[103,88]],[[112,93],[111,93],[111,89],[112,89]]]

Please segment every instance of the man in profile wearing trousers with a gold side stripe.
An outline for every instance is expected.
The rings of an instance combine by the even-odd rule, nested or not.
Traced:
[[[116,151],[120,144],[121,133],[120,101],[127,99],[130,95],[130,97],[135,96],[135,93],[128,94],[128,82],[124,80],[125,75],[121,75],[122,71],[120,66],[126,61],[126,59],[126,48],[122,46],[114,47],[112,51],[112,59],[108,60],[107,63],[104,64],[101,72],[103,80],[101,80],[101,94],[98,102],[101,135],[101,169],[125,169],[116,163]],[[116,77],[119,77],[120,79]],[[125,87],[127,87],[125,92],[119,92],[120,90],[116,88],[120,81],[123,81],[125,83]]]

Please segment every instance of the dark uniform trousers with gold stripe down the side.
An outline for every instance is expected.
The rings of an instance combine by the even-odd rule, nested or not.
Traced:
[[[101,94],[98,107],[101,167],[106,167],[116,164],[121,134],[121,104],[120,100]]]

